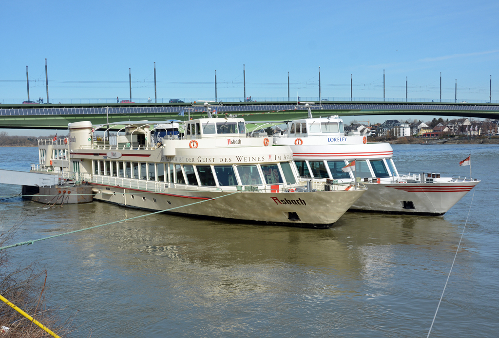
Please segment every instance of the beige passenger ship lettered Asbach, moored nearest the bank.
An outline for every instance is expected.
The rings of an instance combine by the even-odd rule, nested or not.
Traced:
[[[208,118],[185,123],[70,123],[68,142],[40,143],[32,171],[82,181],[95,200],[121,206],[309,228],[331,227],[366,191],[300,181],[288,146],[247,137],[244,119],[206,106]]]

